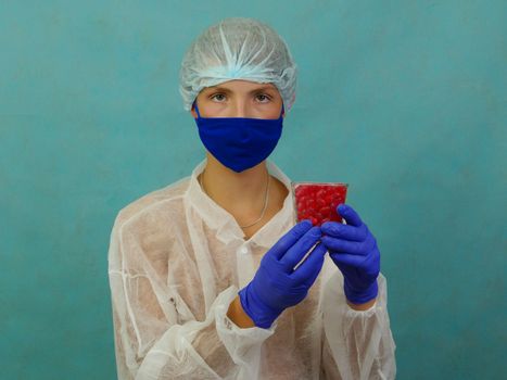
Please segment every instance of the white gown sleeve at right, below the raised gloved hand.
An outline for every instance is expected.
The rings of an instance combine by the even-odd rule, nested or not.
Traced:
[[[324,290],[321,379],[394,379],[395,349],[385,278],[377,278],[379,295],[372,307],[354,311],[346,304],[340,270]]]

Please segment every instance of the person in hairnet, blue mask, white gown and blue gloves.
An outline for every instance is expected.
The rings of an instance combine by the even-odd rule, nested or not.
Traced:
[[[111,232],[119,379],[393,379],[395,344],[376,239],[295,221],[291,180],[268,156],[297,66],[272,27],[210,26],[180,69],[206,157],[131,202]]]

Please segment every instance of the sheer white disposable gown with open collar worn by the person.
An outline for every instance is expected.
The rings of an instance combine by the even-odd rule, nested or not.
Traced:
[[[345,302],[343,277],[326,255],[308,295],[270,329],[239,328],[229,304],[263,255],[294,226],[290,179],[282,208],[245,240],[236,219],[197,177],[153,191],[123,208],[109,251],[119,379],[393,379],[395,344],[385,278],[368,311]]]

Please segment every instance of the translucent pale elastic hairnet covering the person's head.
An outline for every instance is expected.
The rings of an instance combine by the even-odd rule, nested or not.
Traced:
[[[271,83],[289,111],[296,74],[289,47],[275,29],[253,18],[229,17],[191,43],[181,62],[179,91],[185,110],[190,111],[205,87],[233,79]]]

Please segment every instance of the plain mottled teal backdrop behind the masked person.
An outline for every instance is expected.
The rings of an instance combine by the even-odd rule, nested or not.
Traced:
[[[507,376],[507,3],[0,2],[3,379],[113,379],[116,213],[204,157],[178,92],[227,16],[288,41],[271,160],[350,183],[389,281],[400,379]]]

